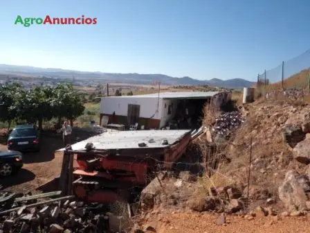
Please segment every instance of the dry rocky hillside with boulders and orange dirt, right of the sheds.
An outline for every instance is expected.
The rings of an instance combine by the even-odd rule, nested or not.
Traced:
[[[310,106],[257,101],[241,113],[245,121],[224,150],[208,155],[216,160],[224,154],[227,159],[218,160],[211,175],[198,179],[162,175],[161,182],[143,191],[145,212],[136,227],[143,229],[159,218],[153,226],[157,232],[309,231]],[[239,114],[233,118],[241,123]],[[218,214],[226,215],[228,223],[217,223]]]

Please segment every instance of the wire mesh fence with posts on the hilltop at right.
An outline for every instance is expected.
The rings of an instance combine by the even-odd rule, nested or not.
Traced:
[[[310,49],[257,76],[257,87],[310,89]]]

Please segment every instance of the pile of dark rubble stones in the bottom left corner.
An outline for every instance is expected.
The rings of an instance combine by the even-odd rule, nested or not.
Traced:
[[[3,198],[10,198],[10,193],[0,193]],[[2,199],[1,199],[2,198]],[[17,198],[18,199],[18,198]],[[62,199],[62,200],[60,200]],[[56,198],[38,205],[37,200],[15,202],[7,200],[6,210],[0,209],[0,232],[119,232],[120,217],[107,212],[107,207],[71,198]],[[12,211],[13,210],[13,211]]]

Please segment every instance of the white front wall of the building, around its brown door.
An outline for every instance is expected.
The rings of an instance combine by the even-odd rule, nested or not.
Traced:
[[[161,102],[161,99],[159,100]],[[128,105],[140,105],[140,117],[161,119],[161,109],[157,110],[158,98],[143,97],[107,97],[101,98],[100,113],[113,114],[118,116],[127,116]],[[160,103],[161,105],[161,103]],[[153,117],[152,117],[153,116]]]

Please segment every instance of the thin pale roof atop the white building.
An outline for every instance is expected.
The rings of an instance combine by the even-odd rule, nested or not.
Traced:
[[[161,92],[159,98],[208,98],[220,92]],[[158,93],[136,96],[109,96],[103,98],[158,98]]]

